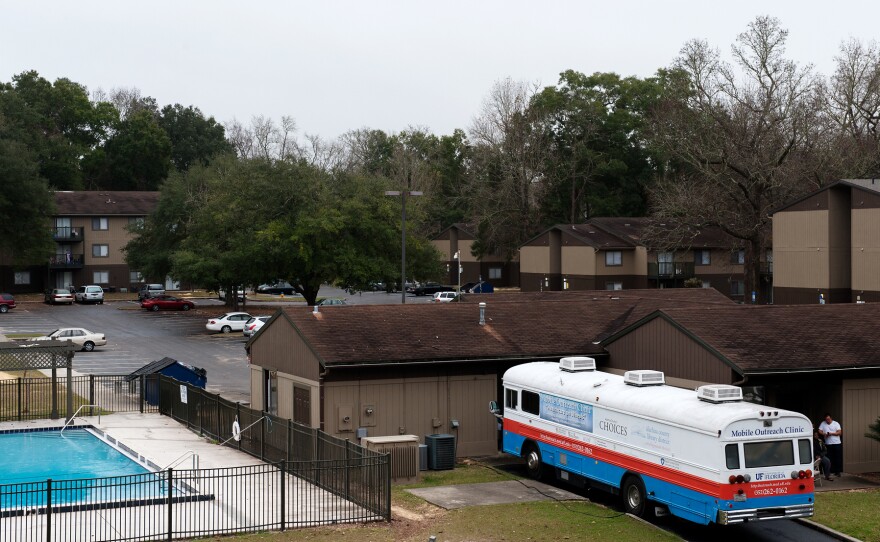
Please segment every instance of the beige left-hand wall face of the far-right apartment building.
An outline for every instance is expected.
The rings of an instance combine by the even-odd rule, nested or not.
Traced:
[[[828,211],[773,215],[773,285],[829,288]]]

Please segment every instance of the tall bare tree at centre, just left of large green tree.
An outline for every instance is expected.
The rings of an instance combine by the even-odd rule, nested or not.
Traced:
[[[537,84],[505,79],[495,84],[469,130],[471,186],[477,249],[508,258],[543,226],[542,167],[549,153],[529,107]]]

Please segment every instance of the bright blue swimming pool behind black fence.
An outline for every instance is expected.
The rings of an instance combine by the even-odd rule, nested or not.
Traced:
[[[167,495],[160,476],[85,428],[2,432],[0,450],[0,509]]]

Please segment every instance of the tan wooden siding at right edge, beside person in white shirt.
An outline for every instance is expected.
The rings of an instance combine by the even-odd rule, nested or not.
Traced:
[[[864,436],[880,413],[880,378],[843,381],[843,468],[846,472],[880,471],[880,442]]]

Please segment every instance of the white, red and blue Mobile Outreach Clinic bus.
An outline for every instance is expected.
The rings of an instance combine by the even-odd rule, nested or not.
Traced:
[[[658,371],[597,371],[587,357],[518,365],[503,384],[503,409],[490,405],[502,449],[534,478],[552,469],[620,493],[629,513],[704,525],[813,515],[810,420],[744,402],[741,388],[694,392]]]

